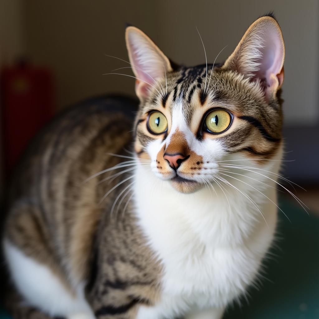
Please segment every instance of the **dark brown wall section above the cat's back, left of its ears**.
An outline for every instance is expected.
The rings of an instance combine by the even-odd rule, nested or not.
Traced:
[[[134,94],[134,80],[105,75],[129,66],[125,23],[138,25],[154,37],[158,22],[153,1],[25,1],[26,49],[33,61],[48,65],[56,76],[59,108],[105,93]],[[130,70],[119,73],[131,74]]]

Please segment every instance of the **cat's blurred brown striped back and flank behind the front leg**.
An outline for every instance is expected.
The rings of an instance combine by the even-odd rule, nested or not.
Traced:
[[[123,161],[110,153],[128,155],[136,108],[124,97],[70,108],[34,139],[16,170],[5,238],[60,277],[86,275],[100,213],[116,194],[100,200],[122,178],[101,183],[112,170],[91,177]]]

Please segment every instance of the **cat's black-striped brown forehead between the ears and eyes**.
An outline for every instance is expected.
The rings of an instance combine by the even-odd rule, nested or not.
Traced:
[[[243,114],[258,112],[265,106],[260,86],[219,65],[182,67],[167,75],[158,87],[161,90],[153,91],[144,105],[145,111],[160,107],[173,115],[182,104],[183,115],[189,120],[198,108],[221,107]]]

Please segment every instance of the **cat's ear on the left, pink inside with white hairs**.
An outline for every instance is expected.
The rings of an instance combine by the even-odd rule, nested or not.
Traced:
[[[172,67],[155,43],[135,26],[126,28],[125,40],[132,70],[137,78],[135,91],[143,101],[152,87],[158,89],[157,81],[165,78],[165,73],[171,72]]]

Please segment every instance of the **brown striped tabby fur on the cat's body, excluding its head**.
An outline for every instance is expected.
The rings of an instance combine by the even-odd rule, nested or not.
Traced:
[[[130,100],[124,103],[136,108]],[[156,299],[160,265],[130,205],[124,216],[122,211],[117,216],[106,213],[118,192],[98,204],[123,177],[99,182],[118,170],[84,182],[123,161],[108,152],[128,155],[123,148],[132,142],[133,113],[130,117],[116,110],[115,99],[107,98],[104,104],[73,108],[33,143],[32,156],[26,157],[13,183],[5,237],[47,264],[70,292],[70,279],[90,281],[87,299],[98,318],[131,318],[138,304]],[[110,107],[115,111],[108,111]],[[8,305],[15,318],[38,318],[31,308],[18,311],[16,300]]]

